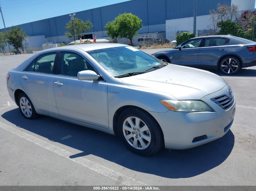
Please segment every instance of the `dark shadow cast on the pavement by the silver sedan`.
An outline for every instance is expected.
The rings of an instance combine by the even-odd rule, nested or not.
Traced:
[[[70,158],[91,154],[131,170],[166,178],[194,177],[211,170],[224,162],[234,147],[234,134],[229,130],[222,138],[196,148],[170,151],[162,148],[153,156],[142,157],[129,151],[117,136],[94,129],[48,116],[28,120],[18,108],[5,112],[2,117],[18,128],[82,151]]]

